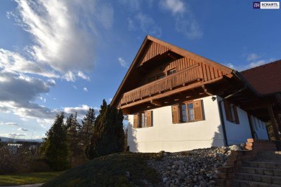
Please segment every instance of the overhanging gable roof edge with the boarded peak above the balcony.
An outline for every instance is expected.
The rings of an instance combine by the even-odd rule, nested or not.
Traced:
[[[155,50],[155,48],[157,50]],[[163,53],[166,53],[167,51],[174,52],[183,57],[191,57],[193,60],[197,60],[197,62],[202,62],[207,66],[211,66],[218,69],[219,71],[222,72],[223,75],[231,74],[233,72],[233,69],[230,69],[229,67],[225,67],[222,64],[218,64],[205,57],[196,55],[195,53],[191,53],[187,50],[184,50],[183,48],[178,48],[177,46],[156,39],[155,37],[146,36],[145,40],[141,45],[141,48],[138,50],[136,57],[133,59],[133,62],[131,63],[129,70],[126,72],[126,75],[124,76],[122,83],[119,85],[119,88],[115,93],[115,96],[113,97],[111,104],[112,105],[117,104],[118,102],[117,99],[119,95],[122,94],[122,88],[124,87],[124,84],[126,83],[129,76],[131,76],[131,72],[134,68],[136,68],[138,65],[144,62],[149,62],[149,60],[155,57],[156,55],[161,55]]]

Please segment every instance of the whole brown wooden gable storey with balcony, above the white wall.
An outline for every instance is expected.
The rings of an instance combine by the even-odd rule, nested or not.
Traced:
[[[152,100],[231,78],[231,73],[228,67],[147,36],[112,103],[119,109],[151,104]]]

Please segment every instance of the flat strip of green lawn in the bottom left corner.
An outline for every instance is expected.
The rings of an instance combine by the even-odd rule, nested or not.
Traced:
[[[0,175],[0,186],[13,186],[29,183],[45,183],[63,172],[40,172],[28,174]]]

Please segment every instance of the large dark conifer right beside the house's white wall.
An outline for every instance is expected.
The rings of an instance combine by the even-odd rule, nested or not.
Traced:
[[[107,105],[105,99],[93,126],[91,143],[86,147],[89,159],[124,151],[123,113]]]

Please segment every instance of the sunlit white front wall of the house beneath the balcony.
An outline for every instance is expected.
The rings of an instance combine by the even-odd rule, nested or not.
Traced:
[[[204,120],[191,123],[172,123],[171,106],[153,109],[153,127],[133,128],[129,115],[128,145],[133,152],[188,151],[195,148],[223,146],[223,130],[218,102],[204,97]]]

